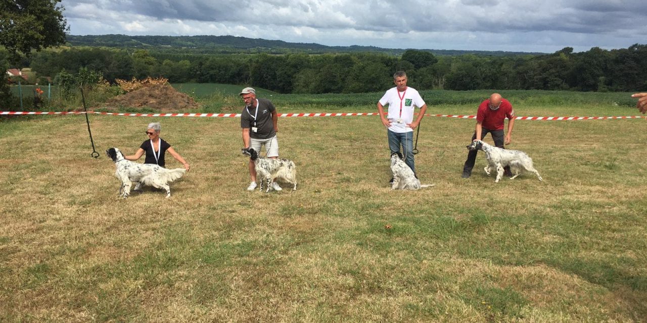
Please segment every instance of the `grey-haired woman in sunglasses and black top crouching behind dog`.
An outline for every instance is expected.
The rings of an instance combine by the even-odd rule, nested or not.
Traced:
[[[166,164],[164,162],[164,153],[168,151],[173,158],[175,158],[177,161],[181,162],[182,165],[184,165],[184,169],[186,171],[190,170],[190,165],[189,163],[178,154],[171,145],[162,140],[160,138],[160,130],[162,130],[162,126],[160,125],[159,122],[151,122],[148,124],[148,130],[146,130],[146,136],[148,136],[148,140],[144,140],[142,145],[139,147],[137,152],[135,154],[130,155],[130,156],[125,156],[127,160],[138,160],[144,152],[146,152],[146,160],[144,160],[144,163],[154,163],[157,165],[160,165],[161,167],[164,167]],[[139,188],[139,184],[137,184],[137,187],[135,187],[135,191]]]

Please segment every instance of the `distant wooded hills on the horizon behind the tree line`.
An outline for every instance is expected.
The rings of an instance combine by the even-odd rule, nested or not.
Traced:
[[[195,54],[238,54],[238,53],[306,53],[325,54],[333,52],[378,52],[400,55],[406,49],[380,48],[373,46],[325,46],[316,43],[288,43],[280,40],[247,38],[236,36],[127,36],[127,35],[67,35],[71,46],[115,47],[115,48],[155,48],[160,50],[183,50]],[[478,56],[519,56],[544,55],[537,52],[488,52],[484,50],[435,50],[434,55],[456,56],[474,54]]]

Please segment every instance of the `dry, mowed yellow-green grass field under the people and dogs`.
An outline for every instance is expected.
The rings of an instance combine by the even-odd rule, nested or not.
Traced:
[[[646,120],[518,120],[508,148],[543,182],[494,183],[482,152],[461,178],[474,120],[425,118],[416,167],[436,186],[391,191],[376,116],[281,118],[299,185],[270,194],[245,191],[237,118],[90,120],[98,159],[83,116],[0,121],[0,321],[646,320]],[[151,121],[192,171],[170,199],[120,199],[104,151],[132,154]]]

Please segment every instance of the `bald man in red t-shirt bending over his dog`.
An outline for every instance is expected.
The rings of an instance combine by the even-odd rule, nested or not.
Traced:
[[[505,134],[505,140],[503,138],[503,120],[508,118],[508,131]],[[510,137],[512,136],[512,127],[514,127],[514,110],[510,101],[507,99],[501,98],[501,94],[494,93],[490,96],[489,99],[484,100],[479,105],[479,110],[476,112],[476,131],[474,131],[474,136],[472,136],[472,141],[479,138],[483,140],[485,135],[490,132],[492,134],[492,140],[494,140],[494,145],[499,148],[504,148],[503,144],[510,144]],[[463,175],[462,178],[469,178],[472,175],[472,168],[474,168],[474,162],[476,161],[476,153],[478,151],[470,151],[467,154],[467,160],[465,161],[465,166],[463,166]],[[511,176],[510,167],[506,166],[504,168],[505,176]]]

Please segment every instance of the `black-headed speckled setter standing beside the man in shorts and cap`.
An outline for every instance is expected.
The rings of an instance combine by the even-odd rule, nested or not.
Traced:
[[[243,148],[242,152],[254,161],[256,177],[259,180],[259,191],[263,191],[263,182],[265,182],[265,193],[268,193],[274,178],[291,183],[294,185],[292,191],[296,191],[296,166],[293,161],[265,158],[253,148]]]

